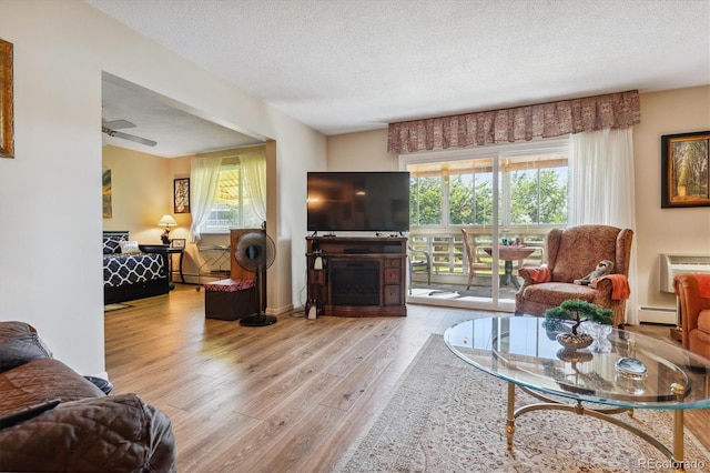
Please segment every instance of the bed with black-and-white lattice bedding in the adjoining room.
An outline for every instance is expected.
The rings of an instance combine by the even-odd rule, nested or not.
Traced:
[[[128,231],[103,232],[103,303],[168,294],[168,246],[138,244]]]

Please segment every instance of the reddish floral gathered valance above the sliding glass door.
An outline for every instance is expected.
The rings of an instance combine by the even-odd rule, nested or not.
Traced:
[[[641,122],[638,90],[513,109],[389,123],[387,151],[464,148],[632,127]]]

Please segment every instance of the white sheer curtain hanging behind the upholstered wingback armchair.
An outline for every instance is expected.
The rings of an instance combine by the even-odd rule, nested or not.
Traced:
[[[632,128],[571,134],[569,224],[606,224],[636,231]],[[631,245],[627,323],[638,324],[637,235]]]

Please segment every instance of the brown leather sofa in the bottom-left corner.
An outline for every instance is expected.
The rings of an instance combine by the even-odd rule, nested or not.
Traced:
[[[172,472],[170,419],[135,394],[106,395],[22,322],[0,322],[0,471]]]

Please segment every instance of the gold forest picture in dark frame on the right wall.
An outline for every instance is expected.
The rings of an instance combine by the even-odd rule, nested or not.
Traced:
[[[661,208],[710,207],[710,131],[661,137]]]

